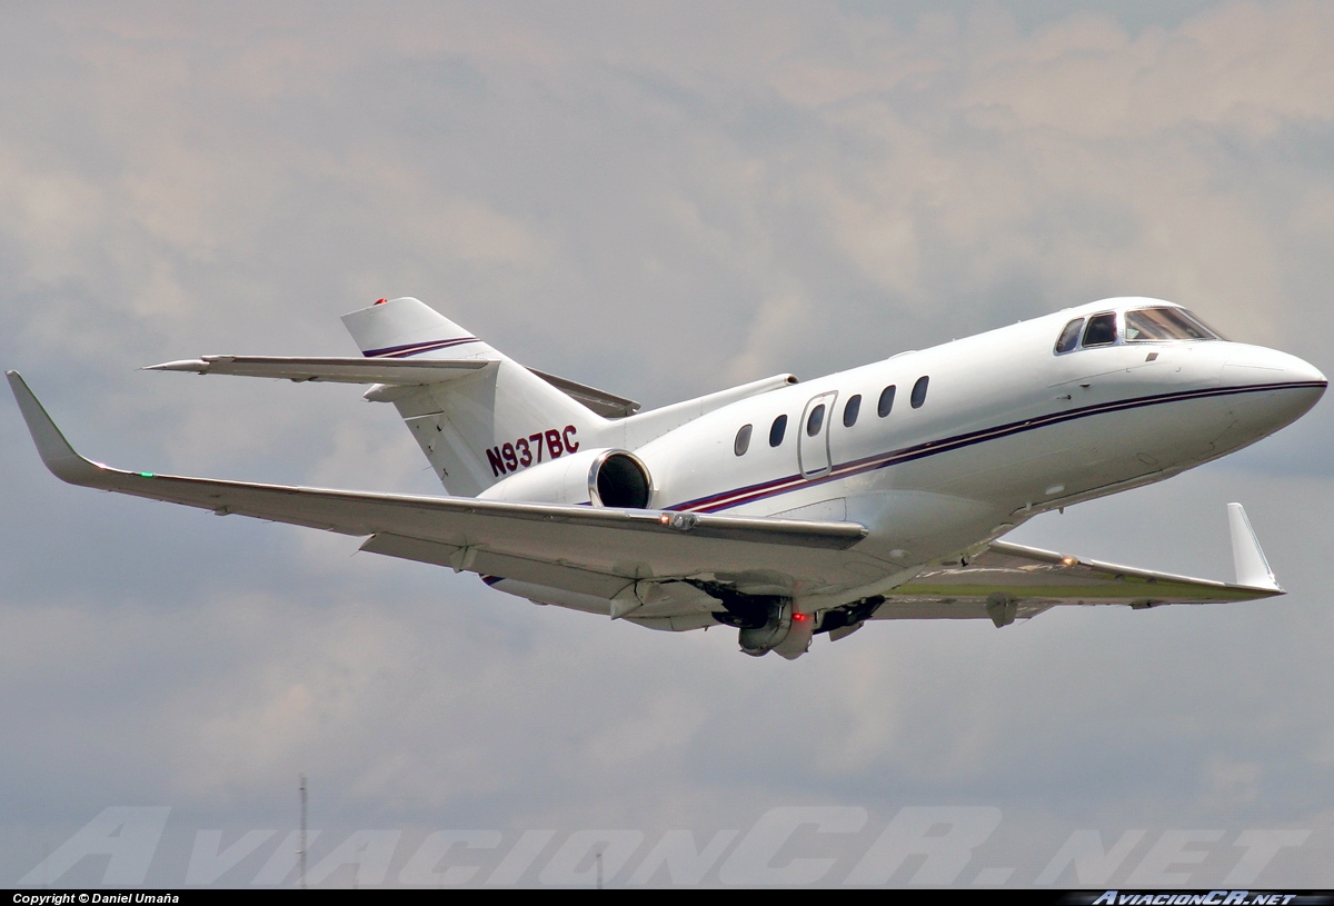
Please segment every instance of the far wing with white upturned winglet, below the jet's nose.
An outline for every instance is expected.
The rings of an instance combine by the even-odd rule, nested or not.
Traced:
[[[1237,582],[1102,563],[992,542],[971,559],[927,566],[886,598],[875,619],[979,618],[996,626],[1059,604],[1214,604],[1282,595],[1239,503],[1229,504]]]

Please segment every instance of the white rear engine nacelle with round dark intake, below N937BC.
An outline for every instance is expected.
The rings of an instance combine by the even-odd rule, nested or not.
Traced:
[[[528,503],[570,503],[618,510],[647,510],[654,483],[648,468],[628,450],[580,450],[530,466],[496,482],[479,498]]]

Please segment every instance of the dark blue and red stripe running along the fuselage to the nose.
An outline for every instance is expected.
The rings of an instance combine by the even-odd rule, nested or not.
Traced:
[[[1185,390],[1173,394],[1158,394],[1154,396],[1137,396],[1134,399],[1117,400],[1111,403],[1098,403],[1094,406],[1086,406],[1077,410],[1070,410],[1066,412],[1053,412],[1050,415],[1039,415],[1031,419],[1025,419],[1022,422],[1010,422],[1007,424],[999,424],[990,428],[982,428],[979,431],[970,431],[967,434],[959,434],[952,438],[943,438],[940,440],[927,440],[926,443],[919,443],[912,447],[903,447],[902,450],[894,450],[890,452],[875,454],[872,456],[864,456],[862,459],[854,459],[851,462],[835,466],[827,475],[822,475],[816,479],[803,479],[800,475],[786,475],[768,482],[762,482],[759,484],[751,484],[747,487],[734,488],[730,491],[723,491],[720,494],[710,494],[708,496],[696,498],[694,500],[687,500],[684,503],[678,503],[671,507],[663,507],[664,510],[691,510],[696,512],[718,512],[720,510],[730,510],[732,507],[742,506],[743,503],[754,503],[755,500],[762,500],[768,496],[775,496],[778,494],[784,494],[787,491],[795,491],[803,487],[811,487],[814,484],[824,484],[826,482],[834,482],[851,475],[859,475],[863,472],[871,472],[878,468],[886,468],[888,466],[898,466],[900,463],[908,463],[915,459],[924,459],[927,456],[934,456],[936,454],[950,452],[952,450],[962,450],[964,447],[971,447],[986,440],[998,440],[1000,438],[1010,438],[1018,434],[1025,434],[1027,431],[1035,431],[1038,428],[1050,427],[1053,424],[1061,424],[1062,422],[1074,422],[1075,419],[1086,419],[1094,415],[1106,415],[1109,412],[1123,412],[1134,408],[1142,408],[1146,406],[1162,406],[1165,403],[1177,403],[1190,399],[1205,399],[1209,396],[1234,396],[1238,394],[1257,394],[1273,390],[1323,390],[1327,386],[1323,380],[1307,380],[1307,382],[1293,382],[1283,384],[1247,384],[1245,387],[1214,387],[1207,390]],[[795,483],[794,487],[786,488],[780,487],[783,484]],[[742,495],[740,499],[731,499]]]

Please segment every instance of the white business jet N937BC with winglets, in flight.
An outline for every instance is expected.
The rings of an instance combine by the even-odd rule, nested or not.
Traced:
[[[1301,418],[1326,379],[1179,306],[1109,299],[876,364],[650,412],[526,368],[416,299],[343,318],[362,358],[215,355],[155,371],[371,384],[450,496],[249,484],[92,463],[9,382],[65,482],[364,536],[542,604],[658,630],[719,623],[796,658],[868,619],[1283,594],[1239,504],[1235,583],[998,540],[1034,515],[1161,482]]]

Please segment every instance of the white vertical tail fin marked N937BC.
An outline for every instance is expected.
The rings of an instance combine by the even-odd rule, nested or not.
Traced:
[[[388,395],[450,494],[476,496],[511,472],[578,450],[606,426],[416,299],[380,300],[344,315],[343,326],[367,358],[494,363],[466,378]]]

